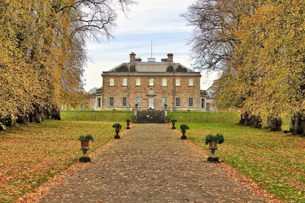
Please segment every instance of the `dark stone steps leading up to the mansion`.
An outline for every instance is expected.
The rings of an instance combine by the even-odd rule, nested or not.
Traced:
[[[164,111],[137,111],[136,123],[167,123]]]

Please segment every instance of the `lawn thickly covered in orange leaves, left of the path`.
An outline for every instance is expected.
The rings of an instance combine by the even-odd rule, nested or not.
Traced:
[[[0,132],[0,202],[13,202],[73,164],[82,154],[77,140],[81,134],[94,135],[88,154],[105,144],[115,134],[112,125],[46,120]]]

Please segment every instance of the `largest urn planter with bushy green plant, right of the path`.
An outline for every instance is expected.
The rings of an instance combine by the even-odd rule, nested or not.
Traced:
[[[208,162],[218,162],[219,158],[215,155],[215,150],[217,150],[217,144],[224,143],[224,136],[217,133],[213,135],[212,133],[206,135],[205,144],[209,144],[209,150],[211,150],[211,155],[208,157]]]

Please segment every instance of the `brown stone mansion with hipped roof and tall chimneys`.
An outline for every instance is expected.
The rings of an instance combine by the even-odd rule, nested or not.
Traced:
[[[161,62],[135,56],[131,52],[130,62],[102,72],[102,88],[87,98],[90,109],[134,110],[137,103],[138,110],[164,110],[166,104],[170,111],[213,111],[213,98],[200,90],[200,72],[174,63],[171,53]]]

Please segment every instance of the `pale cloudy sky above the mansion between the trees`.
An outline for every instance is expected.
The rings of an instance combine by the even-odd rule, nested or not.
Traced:
[[[174,54],[174,62],[191,68],[189,61],[190,47],[186,45],[192,31],[186,27],[186,21],[179,16],[185,12],[191,0],[138,0],[138,5],[131,7],[127,19],[119,13],[117,30],[113,33],[117,38],[107,44],[88,41],[89,55],[92,62],[85,68],[85,90],[102,85],[102,71],[108,71],[123,62],[129,62],[129,54],[135,52],[136,57],[147,61],[151,55],[156,61]],[[216,79],[216,74],[202,73],[201,89],[206,90]]]

